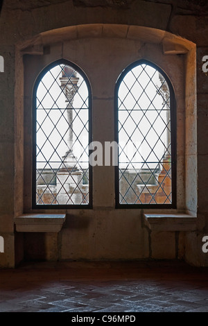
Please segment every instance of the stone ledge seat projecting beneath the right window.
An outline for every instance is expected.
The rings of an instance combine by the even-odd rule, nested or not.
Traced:
[[[154,232],[195,231],[196,216],[189,214],[144,214],[144,225]]]

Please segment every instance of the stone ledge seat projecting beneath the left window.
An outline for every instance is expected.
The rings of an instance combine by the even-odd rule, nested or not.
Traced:
[[[15,218],[17,232],[60,232],[66,214],[23,214]]]

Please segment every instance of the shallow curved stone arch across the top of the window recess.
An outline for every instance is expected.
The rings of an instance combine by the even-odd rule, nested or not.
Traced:
[[[135,25],[122,24],[84,24],[67,26],[40,33],[31,40],[20,42],[17,49],[22,54],[43,54],[44,46],[83,38],[122,38],[138,42],[162,44],[164,54],[185,54],[196,44],[172,33]]]

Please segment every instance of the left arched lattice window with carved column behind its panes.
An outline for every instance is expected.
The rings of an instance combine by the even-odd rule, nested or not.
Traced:
[[[92,95],[83,71],[58,60],[33,90],[33,208],[90,207]]]

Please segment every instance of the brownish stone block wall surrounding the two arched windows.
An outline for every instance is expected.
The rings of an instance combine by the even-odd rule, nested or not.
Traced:
[[[3,1],[0,235],[5,252],[0,252],[0,266],[14,267],[21,259],[185,259],[208,265],[201,249],[208,233],[208,86],[202,71],[207,19],[207,1]],[[33,212],[31,90],[38,72],[58,58],[87,74],[94,139],[101,142],[114,139],[114,86],[121,71],[140,58],[164,69],[177,102],[175,213],[196,214],[196,231],[153,234],[141,209],[115,209],[113,166],[94,167],[94,208],[68,210],[59,234],[15,231],[14,219]]]

